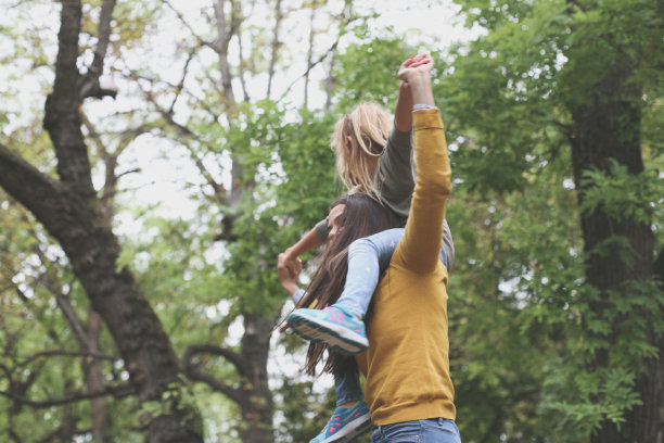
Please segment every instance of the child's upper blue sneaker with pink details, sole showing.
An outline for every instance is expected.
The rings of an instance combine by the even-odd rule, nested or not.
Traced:
[[[323,342],[340,354],[357,355],[369,347],[365,322],[341,307],[295,309],[288,321],[303,339]]]

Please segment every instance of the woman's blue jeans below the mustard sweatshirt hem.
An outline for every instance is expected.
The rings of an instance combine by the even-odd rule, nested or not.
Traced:
[[[459,428],[454,420],[430,418],[403,421],[374,428],[371,443],[461,443]]]

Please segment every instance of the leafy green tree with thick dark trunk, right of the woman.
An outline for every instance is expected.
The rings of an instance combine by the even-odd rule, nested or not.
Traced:
[[[544,329],[558,343],[539,366],[537,414],[557,413],[559,439],[656,441],[662,143],[651,125],[662,122],[661,5],[459,3],[487,35],[450,63],[456,195],[468,189],[491,203],[486,224],[499,224],[502,241],[480,254],[487,265],[493,262],[491,287],[514,299],[522,332]],[[539,423],[540,438],[552,434]]]

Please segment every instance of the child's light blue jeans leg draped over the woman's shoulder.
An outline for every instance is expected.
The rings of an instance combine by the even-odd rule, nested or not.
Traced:
[[[363,319],[378,287],[381,270],[387,269],[392,254],[404,237],[404,228],[387,229],[355,240],[348,249],[346,284],[336,303]],[[445,244],[440,248],[440,262],[449,268]]]

